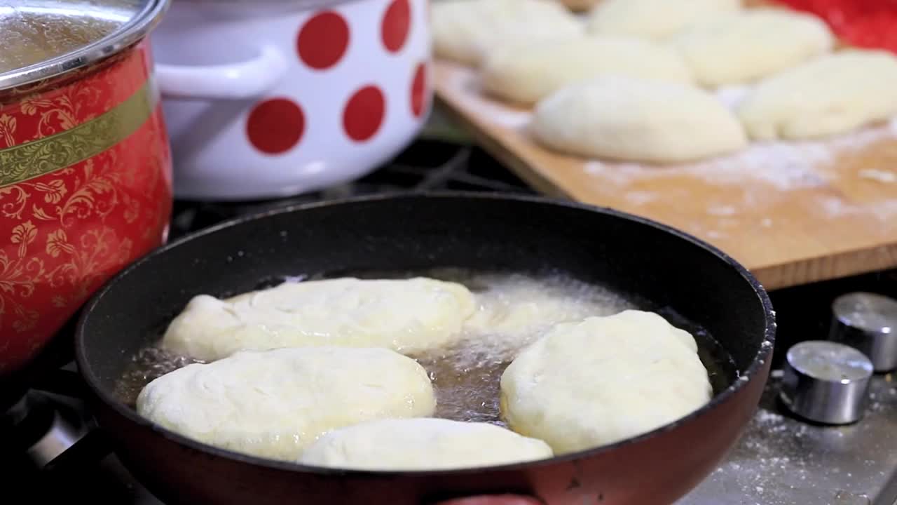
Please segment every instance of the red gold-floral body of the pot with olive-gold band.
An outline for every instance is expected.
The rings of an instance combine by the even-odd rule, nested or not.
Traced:
[[[0,96],[0,375],[164,241],[171,162],[149,45]]]

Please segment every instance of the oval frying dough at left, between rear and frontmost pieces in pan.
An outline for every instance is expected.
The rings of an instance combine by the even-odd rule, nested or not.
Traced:
[[[179,368],[137,397],[137,412],[185,437],[289,461],[327,430],[435,408],[426,370],[388,349],[247,350]]]

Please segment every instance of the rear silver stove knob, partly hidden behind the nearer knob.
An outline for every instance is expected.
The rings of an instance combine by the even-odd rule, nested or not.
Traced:
[[[897,301],[862,292],[836,298],[829,340],[866,354],[876,372],[897,368]]]

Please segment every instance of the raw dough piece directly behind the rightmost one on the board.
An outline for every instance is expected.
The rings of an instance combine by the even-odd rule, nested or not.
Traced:
[[[698,83],[745,84],[831,51],[834,37],[812,14],[751,9],[715,16],[675,36]]]

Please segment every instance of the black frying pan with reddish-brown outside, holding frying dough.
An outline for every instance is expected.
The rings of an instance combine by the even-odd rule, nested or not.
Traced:
[[[732,369],[716,377],[709,404],[638,438],[542,462],[439,472],[344,472],[242,456],[154,426],[113,393],[128,360],[198,293],[231,295],[299,274],[432,267],[554,270],[603,284],[640,298],[644,310],[700,326],[723,350],[703,338],[702,358],[730,357]],[[751,418],[769,372],[773,319],[762,287],[736,261],[666,226],[544,199],[438,194],[288,208],[189,236],[102,288],[75,343],[101,430],[169,505],[417,505],[470,495],[525,502],[495,497],[507,493],[552,505],[650,505],[700,483]]]

